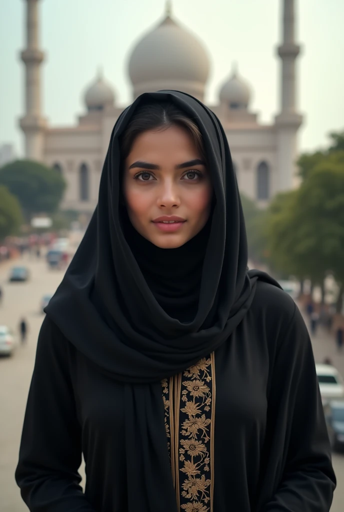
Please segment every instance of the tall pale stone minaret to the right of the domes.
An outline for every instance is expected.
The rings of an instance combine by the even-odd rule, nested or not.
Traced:
[[[281,111],[276,116],[277,190],[293,188],[297,182],[297,130],[302,116],[297,113],[295,60],[300,47],[295,44],[295,0],[283,0],[283,42],[278,47],[282,61]]]

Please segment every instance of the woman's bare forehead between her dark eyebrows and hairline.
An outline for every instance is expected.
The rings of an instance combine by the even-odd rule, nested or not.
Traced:
[[[189,132],[182,126],[169,126],[162,130],[147,130],[139,134],[133,142],[128,159],[182,156],[200,158],[198,148]]]

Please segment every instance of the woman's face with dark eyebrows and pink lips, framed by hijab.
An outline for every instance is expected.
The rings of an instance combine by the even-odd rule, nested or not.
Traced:
[[[212,198],[210,176],[181,126],[142,132],[125,160],[123,193],[135,229],[163,249],[180,247],[204,227]]]

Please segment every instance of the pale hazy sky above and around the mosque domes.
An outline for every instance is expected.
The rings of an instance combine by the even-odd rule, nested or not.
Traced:
[[[18,118],[24,112],[26,0],[0,0],[0,144],[23,152]],[[280,75],[276,46],[282,37],[282,0],[174,0],[180,24],[203,40],[211,59],[206,101],[238,62],[251,84],[250,108],[270,122],[278,111]],[[83,92],[99,66],[119,104],[131,100],[130,52],[163,16],[164,0],[40,0],[42,111],[51,125],[71,125],[85,111]],[[305,114],[300,148],[327,143],[329,131],[344,129],[344,1],[296,0],[298,107]]]

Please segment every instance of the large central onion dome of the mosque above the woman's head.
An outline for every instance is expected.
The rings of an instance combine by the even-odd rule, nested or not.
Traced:
[[[170,12],[134,48],[129,75],[134,97],[143,92],[176,89],[203,99],[209,57],[202,43],[180,27]]]

